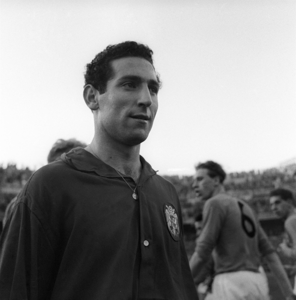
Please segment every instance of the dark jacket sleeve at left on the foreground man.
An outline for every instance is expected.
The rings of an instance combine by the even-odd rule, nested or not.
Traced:
[[[17,202],[0,237],[1,299],[49,299],[53,260],[53,248],[38,217],[24,202]]]

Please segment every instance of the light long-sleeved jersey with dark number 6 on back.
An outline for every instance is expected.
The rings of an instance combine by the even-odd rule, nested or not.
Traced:
[[[195,251],[200,259],[207,259],[213,249],[215,274],[258,272],[260,256],[274,251],[250,206],[226,193],[208,199],[203,208]]]

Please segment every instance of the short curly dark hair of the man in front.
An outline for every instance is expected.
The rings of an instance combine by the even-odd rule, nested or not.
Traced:
[[[106,91],[107,82],[114,76],[110,62],[122,57],[140,57],[148,60],[152,67],[153,51],[146,45],[138,44],[134,41],[126,41],[120,44],[109,45],[105,50],[98,53],[91,63],[86,65],[84,74],[85,85],[91,84],[100,94]],[[155,69],[154,69],[155,70]],[[157,81],[160,83],[159,75],[156,74]]]

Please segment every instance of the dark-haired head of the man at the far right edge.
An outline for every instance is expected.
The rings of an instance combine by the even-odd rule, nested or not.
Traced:
[[[293,210],[295,202],[293,193],[284,188],[278,188],[270,192],[271,209],[279,216],[286,218]]]

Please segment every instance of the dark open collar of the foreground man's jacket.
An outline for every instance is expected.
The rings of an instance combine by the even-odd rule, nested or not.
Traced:
[[[74,148],[70,152],[64,153],[61,156],[61,159],[70,167],[81,172],[94,172],[102,177],[120,177],[113,167],[105,164],[99,158],[96,158],[90,152],[84,150],[81,147]],[[156,174],[150,164],[148,164],[141,155],[140,161],[142,164],[142,172],[138,185],[141,185],[150,176]],[[129,178],[129,176],[124,177]]]

